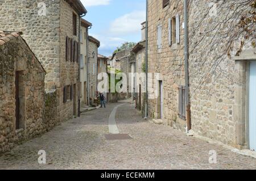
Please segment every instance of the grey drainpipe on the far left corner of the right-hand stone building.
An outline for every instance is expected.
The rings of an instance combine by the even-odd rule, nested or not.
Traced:
[[[145,57],[145,64],[146,64],[146,103],[145,103],[145,117],[144,119],[147,119],[148,117],[148,89],[147,89],[147,83],[148,83],[148,76],[147,76],[147,50],[148,50],[148,0],[146,1],[146,57]]]

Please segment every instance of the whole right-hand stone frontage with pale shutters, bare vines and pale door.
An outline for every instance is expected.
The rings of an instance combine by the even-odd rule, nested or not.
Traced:
[[[251,150],[256,150],[255,8],[254,0],[188,1],[192,131]],[[183,11],[183,1],[148,1],[148,68],[162,74],[148,82],[148,89],[160,90],[148,109],[150,116],[185,131]]]

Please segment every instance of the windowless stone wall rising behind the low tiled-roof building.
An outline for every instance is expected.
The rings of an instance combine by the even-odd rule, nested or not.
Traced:
[[[46,16],[39,11],[42,2]],[[59,87],[60,0],[4,0],[0,1],[0,14],[1,30],[22,31],[22,37],[43,64],[47,71],[46,89]]]

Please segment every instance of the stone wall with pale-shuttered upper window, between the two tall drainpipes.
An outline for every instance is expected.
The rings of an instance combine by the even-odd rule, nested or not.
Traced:
[[[151,95],[148,100],[148,116],[160,118],[160,100],[156,95],[159,80],[163,81],[163,120],[166,124],[185,130],[186,122],[178,117],[178,86],[185,85],[184,79],[184,50],[183,39],[183,1],[170,1],[164,7],[163,1],[148,1],[148,73],[160,73],[162,77],[155,78],[154,74],[148,83]],[[168,43],[168,19],[179,14],[180,43]],[[158,50],[158,25],[162,24],[162,49]]]

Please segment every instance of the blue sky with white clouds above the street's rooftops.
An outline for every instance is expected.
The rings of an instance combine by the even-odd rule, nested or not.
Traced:
[[[101,41],[99,53],[110,56],[125,41],[141,40],[141,23],[146,20],[146,0],[80,0],[93,24],[89,35]]]

